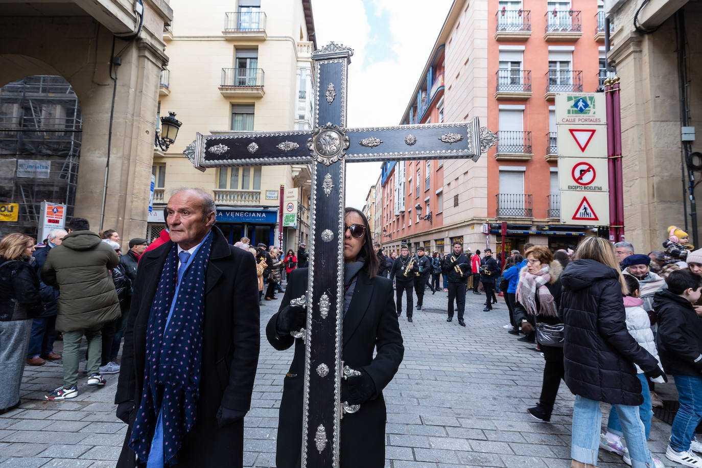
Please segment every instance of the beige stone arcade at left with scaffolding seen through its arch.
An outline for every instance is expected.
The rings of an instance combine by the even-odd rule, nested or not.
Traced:
[[[145,234],[172,16],[163,0],[0,1],[0,203],[19,208],[0,236],[39,235],[44,200],[95,231],[103,221],[126,241]]]

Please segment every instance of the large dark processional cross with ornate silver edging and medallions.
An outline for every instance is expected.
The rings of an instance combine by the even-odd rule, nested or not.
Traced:
[[[312,53],[316,78],[314,130],[197,133],[195,141],[185,149],[186,156],[201,171],[312,164],[312,241],[301,421],[303,468],[339,466],[340,418],[354,410],[341,401],[346,163],[448,158],[477,161],[497,142],[495,134],[481,128],[477,118],[458,123],[346,128],[347,76],[352,54],[352,49],[333,42]]]

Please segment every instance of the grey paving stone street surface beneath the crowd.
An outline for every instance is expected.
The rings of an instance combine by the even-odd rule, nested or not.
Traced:
[[[527,414],[541,390],[543,358],[503,328],[508,312],[502,297],[493,312],[482,312],[484,295],[469,291],[466,302],[465,328],[456,319],[446,323],[443,291],[427,291],[427,310],[415,310],[413,323],[400,319],[404,361],[384,391],[385,467],[569,467],[573,396],[561,385],[550,423]],[[292,359],[292,349],[277,352],[265,340],[265,324],[278,305],[261,307],[261,353],[245,419],[247,467],[275,466],[283,376]],[[117,377],[107,375],[99,389],[81,378],[77,399],[46,401],[44,393],[62,383],[60,361],[27,366],[22,405],[0,415],[0,467],[114,467],[126,431],[114,416]],[[656,390],[665,398],[671,387]],[[602,410],[606,423],[609,406]],[[670,427],[655,417],[652,425],[649,447],[668,461]],[[601,450],[598,466],[626,465]]]

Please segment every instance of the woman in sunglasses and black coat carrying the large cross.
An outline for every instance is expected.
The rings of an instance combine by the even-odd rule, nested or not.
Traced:
[[[366,217],[346,208],[344,234],[344,296],[342,352],[345,365],[361,375],[343,380],[341,399],[361,408],[341,420],[340,466],[385,466],[385,400],[383,389],[402,362],[404,347],[395,314],[392,283],[377,276],[378,257],[373,253]],[[296,269],[279,312],[266,326],[268,342],[275,349],[295,345],[295,356],[283,381],[278,422],[276,466],[300,467],[302,445],[305,343],[290,333],[305,327],[307,312],[291,306],[293,298],[307,291],[307,269]],[[377,351],[373,358],[373,350]]]

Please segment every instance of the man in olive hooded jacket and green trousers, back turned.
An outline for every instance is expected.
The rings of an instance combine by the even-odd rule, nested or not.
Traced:
[[[47,400],[78,396],[78,349],[88,338],[88,383],[105,385],[100,377],[102,335],[106,322],[121,315],[109,269],[119,265],[117,253],[90,231],[88,221],[73,218],[60,246],[52,248],[41,267],[41,281],[58,286],[56,330],[63,333],[63,386],[46,394]]]

